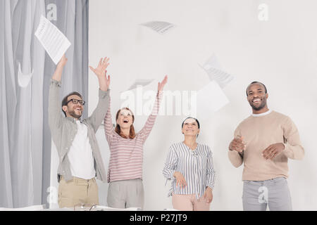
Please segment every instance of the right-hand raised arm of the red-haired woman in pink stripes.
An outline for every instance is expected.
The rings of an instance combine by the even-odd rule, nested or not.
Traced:
[[[149,136],[149,134],[154,126],[156,116],[159,114],[160,102],[161,102],[161,98],[163,95],[163,88],[164,88],[165,84],[167,83],[167,80],[168,80],[168,77],[166,75],[164,77],[163,81],[159,82],[158,87],[157,87],[158,91],[156,94],[156,100],[155,100],[152,112],[149,115],[149,117],[147,118],[147,122],[145,123],[144,127],[141,129],[141,131],[139,131],[139,134],[144,136],[144,141],[147,140],[147,137]]]

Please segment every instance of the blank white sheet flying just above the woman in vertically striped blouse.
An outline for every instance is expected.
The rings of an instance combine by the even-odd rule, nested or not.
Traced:
[[[206,119],[211,113],[223,108],[229,100],[216,81],[212,81],[197,91],[197,117]]]

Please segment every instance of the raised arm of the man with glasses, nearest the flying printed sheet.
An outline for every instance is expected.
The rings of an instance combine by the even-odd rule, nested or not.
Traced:
[[[61,58],[56,66],[56,70],[51,77],[49,85],[49,127],[51,133],[54,133],[61,125],[63,115],[61,115],[61,101],[59,99],[59,92],[61,90],[61,77],[63,74],[63,68],[67,63],[65,55]]]

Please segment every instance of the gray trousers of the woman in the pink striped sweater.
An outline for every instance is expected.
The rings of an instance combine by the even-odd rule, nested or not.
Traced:
[[[144,189],[142,179],[110,182],[107,197],[108,207],[143,209]]]

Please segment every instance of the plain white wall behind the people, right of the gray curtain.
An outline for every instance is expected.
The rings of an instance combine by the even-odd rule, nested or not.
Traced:
[[[259,4],[267,4],[268,21],[259,21]],[[208,77],[198,63],[216,53],[223,68],[235,75],[225,87],[230,103],[201,121],[198,141],[211,146],[217,172],[211,210],[242,210],[242,167],[227,156],[237,124],[251,113],[245,88],[254,81],[266,84],[268,106],[289,115],[297,124],[306,156],[289,161],[294,210],[317,210],[316,158],[316,1],[256,0],[92,0],[89,3],[89,62],[108,56],[111,65],[112,113],[120,108],[120,91],[136,78],[169,75],[166,90],[198,90]],[[139,26],[151,20],[177,25],[156,34]],[[97,79],[89,75],[89,115],[97,105]],[[156,90],[151,84],[145,90]],[[169,186],[161,173],[171,143],[182,141],[181,116],[160,116],[144,146],[144,210],[172,207]],[[147,117],[138,116],[141,129]],[[104,131],[97,133],[108,166]],[[99,183],[100,184],[100,183]],[[106,204],[108,184],[100,184]]]

